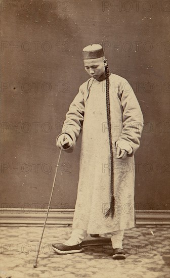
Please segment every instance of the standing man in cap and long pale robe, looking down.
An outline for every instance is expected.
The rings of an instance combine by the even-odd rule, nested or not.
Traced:
[[[88,45],[82,55],[91,78],[80,86],[57,137],[57,146],[70,152],[82,130],[72,234],[53,249],[81,252],[87,234],[111,234],[113,259],[125,259],[124,229],[135,225],[134,154],[143,116],[128,81],[109,73],[101,45]]]

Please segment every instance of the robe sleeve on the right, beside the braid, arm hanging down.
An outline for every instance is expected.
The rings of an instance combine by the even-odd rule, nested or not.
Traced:
[[[120,85],[121,91],[119,92],[119,97],[123,108],[123,128],[118,141],[116,141],[116,145],[122,146],[127,151],[131,147],[133,151],[129,152],[128,156],[133,156],[140,145],[143,115],[131,85],[127,86],[127,84],[129,84],[128,81],[124,80]]]

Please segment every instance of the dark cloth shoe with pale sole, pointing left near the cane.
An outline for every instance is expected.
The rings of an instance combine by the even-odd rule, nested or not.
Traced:
[[[68,245],[64,245],[62,243],[54,243],[54,244],[52,244],[52,248],[58,254],[71,254],[71,253],[82,252],[80,244],[68,246]]]

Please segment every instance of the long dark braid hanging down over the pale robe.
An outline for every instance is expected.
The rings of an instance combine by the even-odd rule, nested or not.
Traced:
[[[113,218],[114,215],[114,189],[113,189],[113,182],[114,182],[114,169],[113,169],[113,148],[112,148],[112,134],[111,134],[111,119],[110,119],[110,98],[109,98],[109,68],[108,65],[105,67],[106,72],[106,108],[107,108],[107,123],[108,123],[108,130],[109,130],[109,146],[110,146],[110,163],[111,163],[111,202],[110,208],[105,213],[105,217],[107,218],[110,214]]]

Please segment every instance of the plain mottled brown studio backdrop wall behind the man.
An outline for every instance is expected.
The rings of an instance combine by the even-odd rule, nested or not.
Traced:
[[[110,72],[129,80],[144,115],[136,208],[169,208],[168,13],[168,1],[1,2],[3,207],[49,202],[56,136],[89,78],[81,50],[100,43]],[[80,144],[81,137],[72,154],[62,154],[53,208],[74,208]]]

